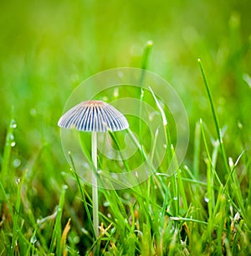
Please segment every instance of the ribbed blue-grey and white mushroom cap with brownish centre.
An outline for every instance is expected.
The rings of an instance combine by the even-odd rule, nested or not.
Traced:
[[[81,102],[59,119],[59,127],[85,132],[120,131],[129,127],[126,118],[115,107],[102,101]]]

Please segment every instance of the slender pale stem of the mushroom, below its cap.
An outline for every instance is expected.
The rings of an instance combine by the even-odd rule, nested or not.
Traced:
[[[95,230],[95,237],[99,236],[99,198],[98,198],[98,180],[96,177],[98,165],[97,165],[97,133],[91,133],[91,158],[95,166],[95,170],[92,173],[92,203],[93,203],[93,227]]]

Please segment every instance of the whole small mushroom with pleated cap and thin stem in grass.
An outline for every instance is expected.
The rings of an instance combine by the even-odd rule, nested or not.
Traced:
[[[97,173],[97,133],[115,132],[129,127],[125,116],[115,107],[102,101],[81,102],[59,119],[61,128],[75,128],[91,133],[91,158]],[[98,180],[92,174],[93,226],[96,238],[99,235]]]

